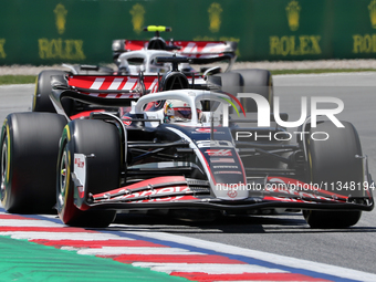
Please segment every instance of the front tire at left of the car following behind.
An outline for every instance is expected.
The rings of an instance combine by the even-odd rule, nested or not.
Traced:
[[[42,71],[35,82],[35,92],[32,101],[32,112],[46,112],[46,113],[56,113],[52,102],[50,100],[50,93],[52,91],[51,87],[51,76],[59,75],[62,77],[66,74],[64,71]],[[72,100],[63,100],[63,107],[67,114],[70,114],[73,101]]]

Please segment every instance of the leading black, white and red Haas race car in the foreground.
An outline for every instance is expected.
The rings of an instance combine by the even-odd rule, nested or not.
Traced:
[[[306,134],[292,139],[272,115],[259,126],[258,103],[240,95],[272,101],[268,71],[189,76],[178,70],[187,60],[157,58],[173,65],[164,75],[52,75],[56,113],[15,113],[3,123],[2,206],[55,208],[79,227],[106,227],[129,211],[302,210],[312,228],[345,228],[373,209],[351,123],[307,118],[299,128]],[[330,137],[312,138],[322,132]]]

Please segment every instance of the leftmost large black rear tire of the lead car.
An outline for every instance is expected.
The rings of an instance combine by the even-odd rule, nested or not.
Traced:
[[[55,167],[65,117],[8,115],[1,129],[1,203],[13,213],[54,212]]]

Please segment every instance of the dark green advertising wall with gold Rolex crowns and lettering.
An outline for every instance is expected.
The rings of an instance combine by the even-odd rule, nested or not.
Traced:
[[[111,63],[115,39],[238,42],[238,61],[374,58],[376,0],[1,1],[0,64]]]

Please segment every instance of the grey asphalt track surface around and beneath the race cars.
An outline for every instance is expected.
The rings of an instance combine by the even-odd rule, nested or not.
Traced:
[[[300,115],[301,96],[333,96],[344,102],[340,119],[357,128],[370,174],[376,177],[374,108],[376,74],[281,75],[274,77],[281,112],[291,121]],[[0,87],[0,119],[12,112],[30,111],[33,85]],[[296,111],[296,108],[299,111]],[[364,212],[349,229],[310,229],[301,213],[224,218],[213,222],[186,222],[169,218],[130,217],[122,219],[127,230],[147,234],[167,232],[208,242],[219,242],[274,254],[376,273],[375,211]],[[122,224],[119,224],[122,226]],[[272,255],[271,255],[272,258]]]

